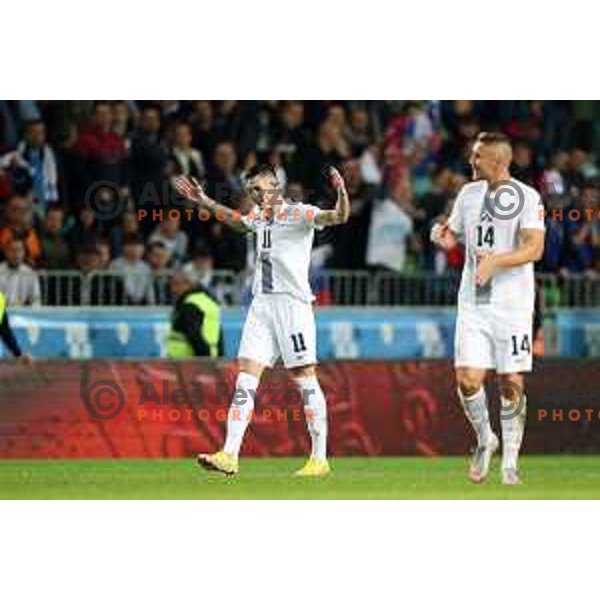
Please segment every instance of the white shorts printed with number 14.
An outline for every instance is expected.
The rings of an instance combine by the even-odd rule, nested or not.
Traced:
[[[531,371],[532,351],[533,311],[459,306],[455,366],[526,373]]]

